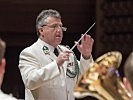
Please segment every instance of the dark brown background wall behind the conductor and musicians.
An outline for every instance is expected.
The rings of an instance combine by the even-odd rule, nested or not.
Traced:
[[[88,34],[95,42],[94,60],[109,51],[120,51],[119,67],[124,76],[125,59],[133,50],[132,0],[0,0],[0,37],[7,43],[6,73],[2,84],[5,93],[24,98],[24,85],[18,69],[19,53],[37,40],[35,20],[43,9],[56,9],[67,27],[62,44],[72,47],[74,41],[96,22]],[[79,52],[74,49],[79,59]]]

